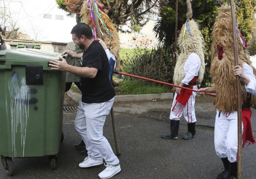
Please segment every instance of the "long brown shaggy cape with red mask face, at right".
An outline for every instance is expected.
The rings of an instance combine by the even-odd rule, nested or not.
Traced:
[[[252,67],[247,50],[244,49],[238,34],[237,50],[238,63],[243,67],[243,63],[247,63]],[[230,7],[222,5],[219,15],[214,22],[212,31],[212,63],[211,75],[212,82],[216,87],[216,103],[215,106],[222,112],[233,112],[237,110],[237,90],[236,77],[234,76],[234,43],[232,34],[232,19]],[[223,58],[218,59],[217,45],[223,47]],[[253,71],[255,69],[252,67]],[[254,73],[255,74],[255,73]],[[241,99],[242,102],[246,98],[246,90],[244,84],[241,83]],[[252,103],[255,104],[255,97],[252,96]]]

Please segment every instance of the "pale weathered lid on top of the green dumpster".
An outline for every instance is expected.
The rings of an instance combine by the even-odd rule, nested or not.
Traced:
[[[49,62],[51,59],[59,60],[59,53],[41,51],[31,48],[11,49],[0,51],[0,59],[19,61]]]

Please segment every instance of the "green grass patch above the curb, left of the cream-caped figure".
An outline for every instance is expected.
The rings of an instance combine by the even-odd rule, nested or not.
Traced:
[[[171,89],[166,86],[156,86],[156,85],[142,85],[136,81],[120,82],[119,86],[116,87],[117,93],[119,94],[161,94],[161,93],[171,93]]]

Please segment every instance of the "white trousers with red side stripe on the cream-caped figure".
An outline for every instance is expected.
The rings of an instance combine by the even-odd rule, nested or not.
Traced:
[[[193,87],[194,90],[197,90],[197,85]],[[175,93],[173,102],[172,102],[172,108],[175,105],[177,93]],[[188,99],[188,102],[185,104],[183,108],[183,116],[187,120],[188,123],[194,123],[196,122],[196,115],[195,115],[195,101],[196,101],[196,92],[192,92],[191,96]],[[180,120],[181,116],[176,116],[175,112],[172,111],[171,108],[171,114],[170,119],[171,120]]]

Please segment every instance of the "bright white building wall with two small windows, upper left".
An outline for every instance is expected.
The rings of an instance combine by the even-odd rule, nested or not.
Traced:
[[[72,41],[70,31],[76,25],[76,19],[68,17],[67,12],[58,8],[55,0],[0,0],[0,7],[10,8],[12,17],[17,21],[20,32],[28,34],[38,41]],[[44,19],[51,14],[52,19]],[[63,20],[56,20],[62,15]]]

